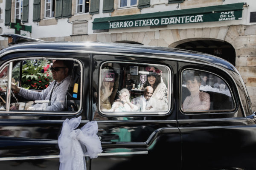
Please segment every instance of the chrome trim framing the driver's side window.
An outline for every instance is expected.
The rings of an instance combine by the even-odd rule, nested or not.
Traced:
[[[11,65],[11,63],[13,63],[13,61],[21,61],[21,60],[26,60],[26,59],[63,59],[63,60],[72,60],[72,61],[76,61],[77,63],[79,63],[79,66],[81,68],[81,80],[80,80],[80,105],[79,105],[79,108],[78,108],[78,111],[74,112],[74,113],[68,113],[67,111],[20,111],[20,110],[15,110],[15,111],[7,111],[7,107],[6,107],[6,111],[0,111],[0,114],[1,113],[15,113],[15,114],[59,114],[59,115],[75,115],[77,113],[79,113],[81,111],[81,108],[82,108],[82,103],[83,103],[83,98],[82,98],[82,87],[84,86],[84,78],[83,78],[83,65],[82,63],[78,60],[78,59],[75,59],[75,58],[56,58],[56,57],[24,57],[24,58],[18,58],[18,59],[12,59],[12,60],[9,60],[7,62],[4,62],[3,65],[0,66],[0,70],[2,70],[6,65],[9,65],[9,69],[13,69],[13,66]],[[10,77],[10,79],[12,78],[12,71],[9,71],[8,73],[8,76]],[[8,87],[11,87],[11,80],[9,80],[8,78]],[[9,93],[7,93],[9,94]],[[7,101],[8,101],[8,96],[10,95],[7,95]],[[6,101],[6,102],[7,102]]]

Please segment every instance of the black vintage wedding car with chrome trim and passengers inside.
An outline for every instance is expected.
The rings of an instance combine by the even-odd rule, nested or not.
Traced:
[[[63,110],[29,110],[45,101],[23,98],[11,82],[42,91],[56,59],[70,61],[72,70]],[[256,115],[239,72],[221,58],[32,40],[0,51],[0,77],[1,169],[57,170],[62,123],[78,116],[79,127],[97,121],[102,144],[98,158],[85,155],[87,170],[256,169]],[[154,90],[149,108],[140,103],[147,86]]]

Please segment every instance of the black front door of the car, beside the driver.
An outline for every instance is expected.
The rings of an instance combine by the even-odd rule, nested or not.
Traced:
[[[31,91],[42,91],[49,86],[52,78],[49,67],[55,60],[68,60],[71,66],[65,108],[61,111],[28,110],[37,102],[46,101],[36,102],[18,96],[16,93],[10,93],[11,82]],[[2,56],[0,167],[6,170],[58,169],[60,164],[58,136],[61,133],[62,123],[66,118],[79,115],[82,116],[81,125],[89,121],[89,108],[83,108],[83,105],[88,103],[88,98],[81,98],[81,96],[88,96],[89,86],[89,65],[84,65],[82,62],[89,63],[89,61],[88,54],[64,52],[27,51]],[[76,91],[73,90],[75,83],[78,84]],[[13,99],[14,96],[18,101]],[[89,169],[90,158],[86,157],[86,161]]]

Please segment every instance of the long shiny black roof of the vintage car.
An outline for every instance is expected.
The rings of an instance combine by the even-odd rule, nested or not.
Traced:
[[[71,41],[38,41],[25,42],[0,51],[0,57],[17,51],[60,51],[60,52],[89,52],[94,54],[115,54],[115,55],[133,55],[137,57],[152,57],[171,59],[176,61],[186,61],[192,63],[201,63],[207,65],[216,65],[230,71],[236,71],[236,68],[224,59],[204,54],[196,51],[183,50],[178,48],[165,48],[156,46],[147,46],[139,44],[116,43],[116,42],[71,42]]]

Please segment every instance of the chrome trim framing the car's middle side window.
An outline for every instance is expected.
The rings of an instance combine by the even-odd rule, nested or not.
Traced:
[[[169,108],[168,108],[168,110],[167,111],[163,111],[163,112],[158,112],[158,113],[156,113],[156,112],[108,112],[108,113],[106,113],[106,112],[103,112],[100,108],[99,108],[99,105],[98,105],[98,110],[100,111],[100,113],[102,113],[103,115],[108,115],[108,116],[118,116],[118,115],[138,115],[138,114],[140,114],[140,115],[145,115],[145,116],[147,116],[147,115],[164,115],[164,114],[167,114],[167,113],[169,113],[169,111],[172,109],[172,107],[171,107],[171,96],[172,96],[172,94],[171,94],[171,91],[172,91],[172,71],[171,71],[171,69],[168,67],[168,66],[166,66],[166,65],[161,65],[161,64],[149,64],[149,63],[140,63],[140,62],[120,62],[120,61],[106,61],[106,62],[103,62],[100,66],[99,66],[99,82],[98,82],[98,91],[100,92],[100,88],[101,88],[101,82],[100,82],[100,80],[101,80],[101,73],[102,73],[102,65],[104,65],[105,63],[128,63],[128,64],[134,64],[134,65],[152,65],[152,66],[161,66],[161,67],[164,67],[164,68],[166,68],[167,69],[167,71],[168,71],[168,78],[169,78],[169,87],[168,87],[168,85],[166,85],[166,87],[167,87],[167,90],[168,90],[168,96],[169,96],[169,99],[168,99],[168,106],[169,106]],[[100,103],[100,94],[98,94],[98,103]]]

